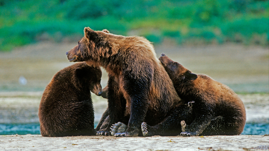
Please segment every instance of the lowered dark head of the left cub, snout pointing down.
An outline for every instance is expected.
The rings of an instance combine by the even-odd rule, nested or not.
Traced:
[[[75,67],[73,83],[80,91],[93,92],[97,96],[103,93],[101,86],[102,71],[100,67],[89,66],[86,63]]]

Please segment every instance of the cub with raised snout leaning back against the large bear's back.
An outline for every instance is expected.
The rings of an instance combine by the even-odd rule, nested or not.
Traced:
[[[188,121],[181,121],[183,136],[198,135],[239,135],[246,123],[246,111],[243,102],[228,86],[219,83],[203,74],[194,74],[181,64],[172,61],[163,53],[160,61],[172,79],[175,90],[181,99],[192,102],[192,111]],[[174,119],[166,119],[171,126],[178,126],[175,121],[182,113],[174,115]],[[181,118],[182,119],[182,118]],[[154,130],[162,129],[162,125],[154,126]],[[142,131],[152,129],[142,124]]]

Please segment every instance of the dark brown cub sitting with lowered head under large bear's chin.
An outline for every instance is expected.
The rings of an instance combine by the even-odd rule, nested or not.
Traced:
[[[100,67],[75,63],[56,73],[46,87],[39,105],[42,136],[94,135],[92,91],[102,95]]]

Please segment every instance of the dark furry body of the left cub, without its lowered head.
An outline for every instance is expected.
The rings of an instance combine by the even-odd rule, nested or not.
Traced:
[[[60,70],[45,88],[38,110],[42,136],[83,135],[83,129],[87,129],[85,135],[92,133],[94,111],[90,94],[81,93],[73,79],[74,70],[83,65],[75,63]]]

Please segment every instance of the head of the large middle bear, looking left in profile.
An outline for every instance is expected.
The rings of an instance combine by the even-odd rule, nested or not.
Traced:
[[[78,42],[78,45],[66,52],[70,62],[97,61],[102,54],[100,50],[109,47],[107,36],[109,31],[94,31],[89,27],[84,28],[84,37]]]

